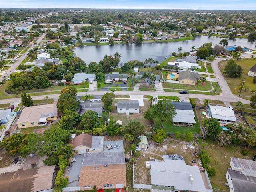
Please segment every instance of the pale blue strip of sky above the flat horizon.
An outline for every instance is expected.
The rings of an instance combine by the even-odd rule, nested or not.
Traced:
[[[1,0],[0,8],[256,10],[255,0]]]

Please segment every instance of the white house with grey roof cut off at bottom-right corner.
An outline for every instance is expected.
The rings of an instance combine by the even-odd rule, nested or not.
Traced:
[[[231,157],[226,173],[230,192],[256,192],[256,161]]]

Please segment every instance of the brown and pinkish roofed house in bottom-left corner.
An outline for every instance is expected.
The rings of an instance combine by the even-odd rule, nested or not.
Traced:
[[[18,169],[0,174],[1,192],[50,190],[54,186],[55,165]]]

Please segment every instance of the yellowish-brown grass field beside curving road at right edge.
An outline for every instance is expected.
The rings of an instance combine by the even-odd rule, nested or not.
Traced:
[[[240,78],[230,78],[226,74],[223,74],[223,70],[227,64],[226,61],[221,61],[218,63],[218,66],[220,68],[220,71],[222,72],[226,82],[228,83],[228,86],[230,87],[230,90],[232,91],[233,94],[239,95],[240,90],[238,90],[238,87],[241,85],[242,80],[245,80],[244,88],[241,92],[241,96],[252,96],[250,93],[250,90],[255,89],[256,85],[252,83],[252,77],[247,76],[248,71],[252,66],[255,65],[255,60],[251,58],[246,58],[246,59],[240,59],[236,61],[236,64],[240,65],[244,70],[243,74]],[[250,97],[244,97],[247,100],[250,100]]]

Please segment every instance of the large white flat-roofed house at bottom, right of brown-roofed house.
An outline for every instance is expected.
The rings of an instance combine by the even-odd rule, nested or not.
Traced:
[[[184,160],[151,160],[151,188],[154,191],[212,192],[207,172],[201,174],[198,166],[186,165]],[[204,179],[203,179],[204,177]]]

